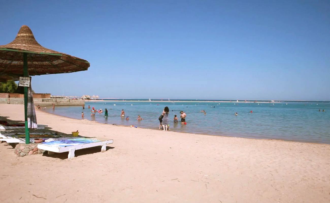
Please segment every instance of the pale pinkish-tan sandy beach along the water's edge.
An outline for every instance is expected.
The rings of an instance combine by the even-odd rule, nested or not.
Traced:
[[[0,115],[23,120],[22,105]],[[100,124],[37,110],[40,124],[113,139],[54,156],[0,144],[0,202],[330,202],[330,145]]]

